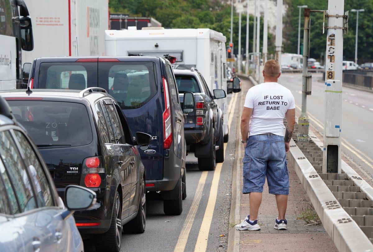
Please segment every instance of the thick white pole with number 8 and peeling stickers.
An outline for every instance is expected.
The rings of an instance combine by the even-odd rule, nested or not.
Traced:
[[[325,57],[323,173],[341,173],[344,0],[329,0]],[[342,18],[341,18],[342,17]],[[336,27],[336,29],[335,29]]]

